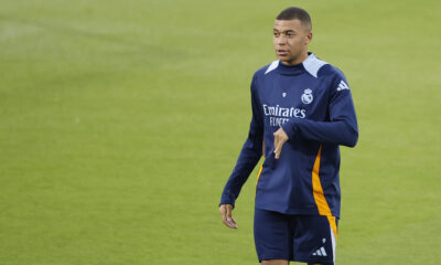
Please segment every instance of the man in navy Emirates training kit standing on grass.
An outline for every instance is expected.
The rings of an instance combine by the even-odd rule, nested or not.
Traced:
[[[288,8],[276,19],[278,61],[251,82],[248,138],[222,193],[223,222],[232,216],[248,176],[257,176],[255,243],[262,265],[289,261],[334,264],[340,219],[340,145],[354,147],[357,120],[343,73],[308,52],[310,15]]]

